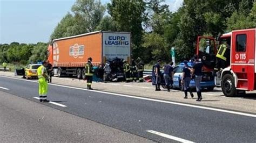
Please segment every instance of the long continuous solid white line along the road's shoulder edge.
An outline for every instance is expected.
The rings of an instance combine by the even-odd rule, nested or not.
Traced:
[[[15,77],[6,77],[6,76],[1,76],[1,75],[0,75],[0,77],[12,78],[12,79],[21,80],[21,81],[28,81],[28,80],[15,78]],[[28,81],[28,82],[36,82],[36,81]],[[36,82],[36,83],[38,83],[38,82]],[[191,105],[191,104],[178,103],[178,102],[172,102],[172,101],[162,101],[160,99],[152,99],[152,98],[146,98],[146,97],[138,97],[138,96],[124,95],[124,94],[115,94],[115,93],[106,92],[106,91],[87,90],[87,89],[84,89],[84,88],[69,87],[69,86],[66,86],[66,85],[59,85],[59,84],[52,84],[52,83],[49,83],[49,84],[50,85],[55,85],[56,87],[79,89],[79,90],[85,90],[85,91],[90,91],[90,92],[98,92],[98,93],[108,94],[108,95],[116,95],[116,96],[129,97],[129,98],[135,98],[135,99],[143,99],[143,100],[146,100],[146,101],[154,101],[154,102],[160,102],[160,103],[181,105],[181,106],[187,106],[187,107],[192,107],[192,108],[206,109],[206,110],[212,110],[212,111],[218,111],[218,112],[224,112],[224,113],[231,113],[231,114],[234,114],[234,115],[242,115],[242,116],[248,116],[248,117],[256,118],[256,115],[251,114],[251,113],[243,113],[243,112],[230,111],[230,110],[225,110],[225,109],[210,108],[210,107],[205,107],[205,106]]]

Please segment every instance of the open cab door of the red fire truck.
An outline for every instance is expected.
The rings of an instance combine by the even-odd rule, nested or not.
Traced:
[[[203,62],[204,71],[213,71],[216,53],[217,49],[213,37],[197,38],[197,55],[198,58]]]

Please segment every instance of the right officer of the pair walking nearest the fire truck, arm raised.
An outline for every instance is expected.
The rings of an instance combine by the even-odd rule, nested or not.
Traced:
[[[195,62],[192,68],[192,74],[194,74],[194,83],[196,84],[196,89],[197,89],[197,101],[201,101],[202,95],[201,95],[201,87],[200,87],[200,82],[203,76],[202,73],[202,68],[203,68],[203,63],[201,60],[198,60],[198,57],[195,56]]]

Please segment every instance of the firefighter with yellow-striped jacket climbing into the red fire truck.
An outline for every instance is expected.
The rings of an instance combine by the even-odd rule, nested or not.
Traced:
[[[216,73],[219,70],[223,70],[224,68],[227,67],[227,63],[230,60],[229,59],[229,54],[230,49],[228,49],[226,44],[221,44],[219,51],[216,55],[216,64],[214,67],[214,72]]]

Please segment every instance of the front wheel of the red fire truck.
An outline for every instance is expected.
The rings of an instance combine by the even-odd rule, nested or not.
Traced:
[[[221,81],[221,89],[225,96],[235,96],[234,77],[231,74],[224,75],[223,80]]]

